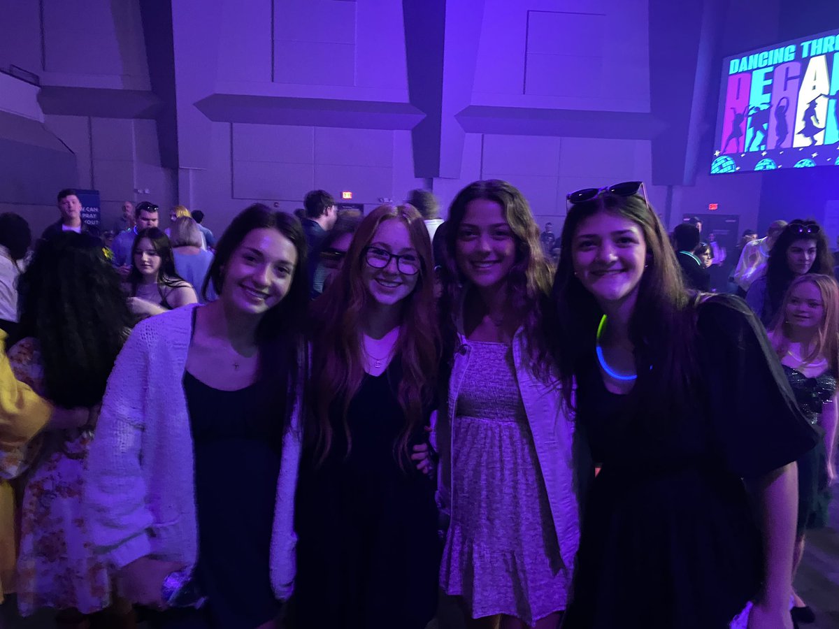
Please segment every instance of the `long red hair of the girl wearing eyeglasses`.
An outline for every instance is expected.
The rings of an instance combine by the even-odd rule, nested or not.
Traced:
[[[309,426],[319,463],[332,447],[330,413],[340,409],[341,425],[347,437],[347,455],[352,439],[347,409],[364,378],[361,319],[369,299],[362,282],[364,247],[370,244],[384,221],[402,221],[408,227],[411,245],[420,257],[420,273],[414,290],[404,299],[402,325],[393,356],[399,356],[401,378],[397,390],[405,424],[393,444],[394,456],[403,466],[409,460],[409,439],[424,420],[433,403],[440,337],[434,320],[434,277],[431,242],[420,213],[411,205],[379,205],[364,217],[352,238],[347,257],[334,281],[312,304],[312,377],[310,378]]]

